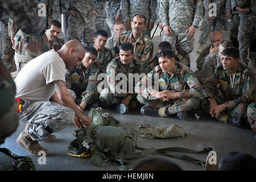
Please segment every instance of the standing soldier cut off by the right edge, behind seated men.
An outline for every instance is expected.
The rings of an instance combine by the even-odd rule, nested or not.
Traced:
[[[251,68],[256,73],[256,37],[254,37],[256,31],[256,1],[232,1],[232,10],[240,12],[240,26],[238,28],[240,59],[248,64],[247,49],[250,47]]]

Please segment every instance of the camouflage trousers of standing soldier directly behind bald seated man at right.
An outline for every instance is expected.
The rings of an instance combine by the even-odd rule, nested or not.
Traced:
[[[221,32],[223,20],[221,16],[216,16],[216,17],[213,17],[213,19],[208,19],[207,16],[204,15],[203,22],[204,22],[204,26],[199,38],[199,43],[201,44],[205,44],[207,42],[207,38],[210,35],[210,31],[212,30],[212,27],[213,27],[213,31]]]

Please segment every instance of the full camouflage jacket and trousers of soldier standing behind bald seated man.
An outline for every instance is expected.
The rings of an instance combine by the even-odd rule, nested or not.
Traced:
[[[210,9],[212,9],[212,7],[209,8],[210,3],[215,3],[216,11],[217,11],[216,16],[213,16],[212,19],[207,18],[207,16],[209,15]],[[224,14],[223,7],[225,7],[225,0],[213,0],[213,1],[204,0],[204,8],[205,8],[205,14],[203,18],[204,28],[201,31],[201,35],[199,38],[200,44],[205,44],[205,42],[207,42],[207,38],[210,34],[210,30],[212,27],[213,27],[213,31],[221,32],[221,28],[223,25],[222,14]]]

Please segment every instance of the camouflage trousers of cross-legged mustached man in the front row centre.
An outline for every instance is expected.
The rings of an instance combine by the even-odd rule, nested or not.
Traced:
[[[100,101],[104,103],[106,106],[117,105],[117,104],[120,104],[121,101],[128,95],[129,93],[125,93],[125,94],[109,93],[109,89],[103,89],[100,93]],[[137,105],[138,105],[137,100],[132,100],[130,102],[129,108],[135,109]]]

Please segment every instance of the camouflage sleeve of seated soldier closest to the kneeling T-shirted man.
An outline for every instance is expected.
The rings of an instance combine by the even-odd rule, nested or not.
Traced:
[[[97,98],[93,98],[93,95],[97,92],[97,85],[100,82],[97,80],[98,73],[98,68],[93,68],[92,72],[90,72],[86,90],[82,92],[82,101],[86,101],[87,103],[96,101]]]

